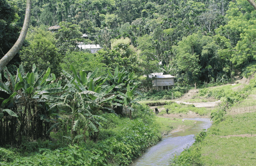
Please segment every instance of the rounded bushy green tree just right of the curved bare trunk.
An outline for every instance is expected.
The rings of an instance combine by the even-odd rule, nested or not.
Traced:
[[[25,71],[31,71],[35,63],[39,70],[51,68],[52,73],[58,77],[61,71],[60,54],[57,52],[53,33],[42,28],[31,28],[26,39],[29,46],[23,47],[20,51]]]

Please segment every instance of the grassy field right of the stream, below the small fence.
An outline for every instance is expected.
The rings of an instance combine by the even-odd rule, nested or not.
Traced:
[[[256,165],[256,112],[224,119],[200,144],[204,165]]]

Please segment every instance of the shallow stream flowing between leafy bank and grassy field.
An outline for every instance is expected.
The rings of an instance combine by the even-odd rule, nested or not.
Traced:
[[[130,166],[167,166],[169,161],[174,158],[174,154],[180,154],[195,142],[195,134],[211,127],[211,121],[208,118],[192,118],[188,120],[196,121],[194,127],[165,136],[156,145],[149,147]]]

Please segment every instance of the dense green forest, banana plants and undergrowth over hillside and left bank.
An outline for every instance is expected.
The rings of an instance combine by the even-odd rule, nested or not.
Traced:
[[[0,58],[25,8],[0,0]],[[0,73],[0,163],[128,165],[161,139],[154,113],[138,101],[233,82],[235,70],[251,77],[255,20],[246,0],[32,1],[26,40]],[[78,42],[102,49],[92,54]],[[151,89],[144,76],[155,72],[176,77],[170,92]]]

